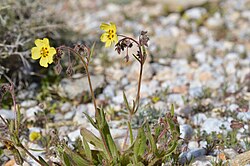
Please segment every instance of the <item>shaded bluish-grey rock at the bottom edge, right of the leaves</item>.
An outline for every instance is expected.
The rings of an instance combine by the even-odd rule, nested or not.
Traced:
[[[206,153],[207,152],[204,148],[197,148],[197,149],[190,150],[188,152],[183,152],[179,156],[179,162],[181,164],[184,164],[187,161],[190,161],[191,159],[195,159],[197,157],[204,156],[204,155],[206,155]]]

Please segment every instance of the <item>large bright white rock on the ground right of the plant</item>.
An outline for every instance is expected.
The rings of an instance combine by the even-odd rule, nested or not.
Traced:
[[[231,131],[230,122],[222,121],[218,118],[207,118],[201,125],[201,131],[204,130],[208,134],[212,132],[222,133],[222,131],[224,131],[221,129],[222,126],[226,128],[226,131]]]

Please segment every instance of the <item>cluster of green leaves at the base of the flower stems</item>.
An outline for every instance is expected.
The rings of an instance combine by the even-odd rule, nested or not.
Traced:
[[[179,124],[174,116],[172,107],[171,113],[167,113],[158,124],[151,129],[145,121],[137,131],[134,138],[130,124],[130,146],[119,151],[111,136],[108,123],[105,119],[103,109],[98,109],[100,116],[94,121],[87,114],[91,124],[101,131],[101,138],[95,136],[86,128],[81,129],[82,145],[76,153],[68,146],[60,145],[58,152],[64,165],[115,165],[115,166],[144,166],[161,165],[166,162],[177,148],[180,130]],[[102,140],[105,140],[104,142]],[[90,145],[94,148],[90,148]]]

